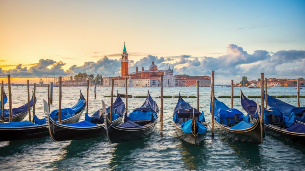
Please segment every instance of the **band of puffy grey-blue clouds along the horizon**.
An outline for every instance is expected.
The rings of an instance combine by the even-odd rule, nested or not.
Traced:
[[[17,65],[16,68],[3,70],[0,67],[0,76],[11,74],[15,77],[40,77],[51,75],[75,75],[78,72],[100,75],[120,75],[120,59],[109,59],[104,56],[96,56],[98,61],[85,62],[81,66],[72,65],[64,71],[62,61],[56,62],[50,59],[41,59],[30,68]],[[147,55],[139,61],[132,60],[129,56],[129,72],[135,72],[138,65],[141,70],[142,65],[147,70],[152,61],[158,69],[165,69],[170,66],[174,68],[174,74],[188,75],[210,75],[215,71],[216,79],[239,80],[241,76],[248,79],[257,79],[260,73],[265,73],[266,77],[290,77],[297,78],[305,75],[305,51],[289,50],[277,51],[275,53],[266,50],[257,50],[252,54],[244,51],[242,47],[229,44],[227,52],[217,58],[203,56],[193,57],[191,55],[180,55],[174,57],[158,57]],[[238,81],[236,81],[238,82]],[[217,82],[216,82],[217,83]]]

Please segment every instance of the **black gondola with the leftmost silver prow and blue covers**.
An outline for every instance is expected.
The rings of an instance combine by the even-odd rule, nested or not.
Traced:
[[[103,101],[104,103],[104,101]],[[96,111],[91,117],[85,113],[85,120],[74,124],[59,124],[48,117],[48,128],[51,138],[54,141],[80,140],[88,138],[97,138],[106,134],[104,124],[104,113],[110,113],[110,106],[106,109]],[[113,124],[120,124],[124,115],[125,104],[117,93],[117,99],[113,103]],[[109,113],[107,120],[109,122]]]

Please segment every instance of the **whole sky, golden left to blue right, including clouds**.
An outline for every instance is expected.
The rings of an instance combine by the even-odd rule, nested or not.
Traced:
[[[0,1],[0,80],[129,71],[231,79],[305,76],[305,1]]]

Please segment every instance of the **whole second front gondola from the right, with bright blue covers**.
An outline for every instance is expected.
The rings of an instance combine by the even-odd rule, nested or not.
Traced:
[[[214,123],[220,130],[234,141],[261,144],[263,142],[263,132],[261,121],[252,123],[249,115],[245,116],[241,111],[230,109],[224,103],[215,98],[214,103]],[[210,103],[212,113],[212,100]]]

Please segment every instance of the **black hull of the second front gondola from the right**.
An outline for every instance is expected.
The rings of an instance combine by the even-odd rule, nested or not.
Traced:
[[[256,122],[252,127],[244,130],[231,130],[222,126],[218,122],[214,121],[215,125],[221,130],[223,134],[228,136],[234,141],[261,144],[263,142],[264,131],[260,122]]]

